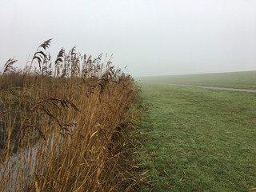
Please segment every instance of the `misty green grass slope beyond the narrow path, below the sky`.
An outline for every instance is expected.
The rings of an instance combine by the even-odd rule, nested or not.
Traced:
[[[220,86],[256,90],[256,71],[220,73],[220,74],[187,74],[172,76],[155,76],[136,78],[141,82],[176,83],[198,86]]]

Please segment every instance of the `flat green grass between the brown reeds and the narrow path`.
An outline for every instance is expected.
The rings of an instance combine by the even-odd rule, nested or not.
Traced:
[[[143,84],[146,103],[138,133],[151,190],[256,187],[256,94]]]

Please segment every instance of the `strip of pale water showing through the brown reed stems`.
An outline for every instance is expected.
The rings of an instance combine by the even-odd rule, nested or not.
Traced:
[[[71,134],[74,132],[74,126],[75,117],[71,128]],[[58,137],[57,145],[54,145],[54,137]],[[34,177],[35,166],[38,165],[38,152],[45,154],[45,156],[48,157],[53,150],[57,151],[58,154],[58,147],[62,145],[62,142],[63,138],[52,131],[46,139],[46,144],[43,146],[40,146],[40,143],[42,142],[36,142],[29,147],[21,147],[16,153],[11,154],[10,158],[5,159],[0,165],[0,189],[2,188],[2,191],[6,192],[18,191],[18,186],[23,186],[23,183],[30,182]],[[42,173],[37,172],[37,174]],[[27,179],[29,181],[27,181]],[[2,181],[5,182],[2,184]],[[1,185],[3,186],[1,187]]]

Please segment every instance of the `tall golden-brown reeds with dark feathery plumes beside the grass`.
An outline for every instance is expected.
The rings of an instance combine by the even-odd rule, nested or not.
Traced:
[[[133,189],[133,78],[75,47],[52,62],[50,41],[24,69],[10,59],[0,75],[0,191]]]

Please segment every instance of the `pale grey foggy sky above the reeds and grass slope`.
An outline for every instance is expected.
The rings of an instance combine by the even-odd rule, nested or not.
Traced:
[[[133,76],[256,70],[256,0],[0,0],[1,68],[49,38]]]

